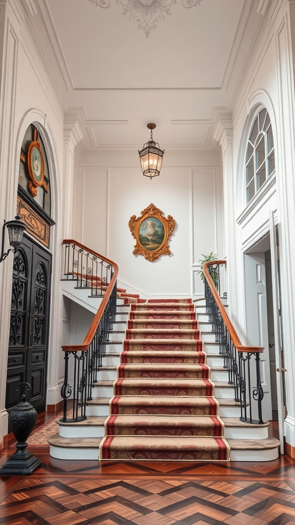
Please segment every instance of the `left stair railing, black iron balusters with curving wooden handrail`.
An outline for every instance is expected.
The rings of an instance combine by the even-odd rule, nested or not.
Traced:
[[[91,290],[91,296],[102,297],[84,342],[61,347],[65,352],[65,377],[61,387],[64,415],[60,421],[65,423],[87,418],[86,402],[92,400],[92,387],[97,383],[116,316],[118,266],[76,240],[66,239],[62,244],[65,278],[76,281],[78,288]]]

